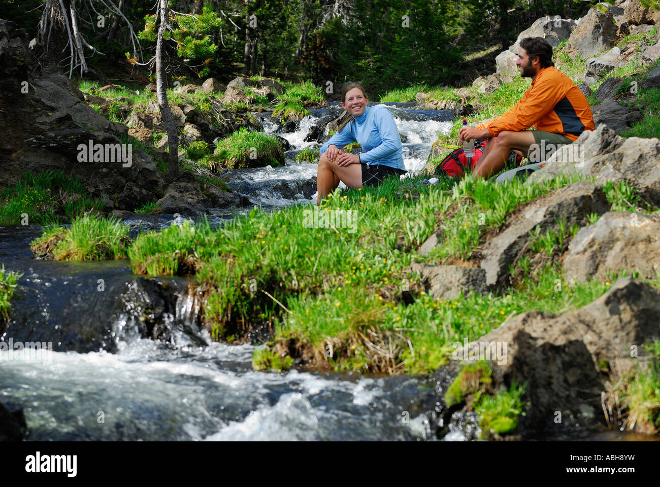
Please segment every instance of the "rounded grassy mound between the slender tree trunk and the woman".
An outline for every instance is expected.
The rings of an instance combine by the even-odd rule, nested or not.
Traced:
[[[222,166],[226,168],[248,168],[253,166],[250,155],[255,151],[259,159],[268,160],[273,166],[282,166],[277,158],[278,154],[282,154],[277,139],[263,132],[251,132],[245,127],[218,142],[214,160],[222,161]]]

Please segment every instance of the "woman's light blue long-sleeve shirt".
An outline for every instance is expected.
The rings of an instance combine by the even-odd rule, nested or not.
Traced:
[[[397,130],[397,124],[389,110],[383,106],[367,106],[364,114],[354,117],[341,131],[335,133],[321,146],[323,154],[331,145],[343,148],[352,142],[362,146],[362,162],[385,164],[393,168],[406,170],[403,164],[403,145]]]

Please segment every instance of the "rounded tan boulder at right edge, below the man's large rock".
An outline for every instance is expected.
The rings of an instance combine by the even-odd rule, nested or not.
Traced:
[[[581,228],[568,245],[564,258],[566,278],[584,282],[595,276],[607,280],[608,273],[629,273],[652,279],[660,270],[660,222],[655,218],[624,211],[607,212],[597,222]]]

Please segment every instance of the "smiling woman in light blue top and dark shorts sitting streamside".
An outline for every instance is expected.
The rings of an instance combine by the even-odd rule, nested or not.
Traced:
[[[339,181],[348,187],[359,188],[377,185],[391,174],[405,174],[403,146],[394,117],[387,108],[370,107],[368,103],[369,98],[360,84],[343,86],[341,106],[351,116],[319,151],[317,205],[339,186]],[[352,142],[360,144],[364,154],[339,150]]]

